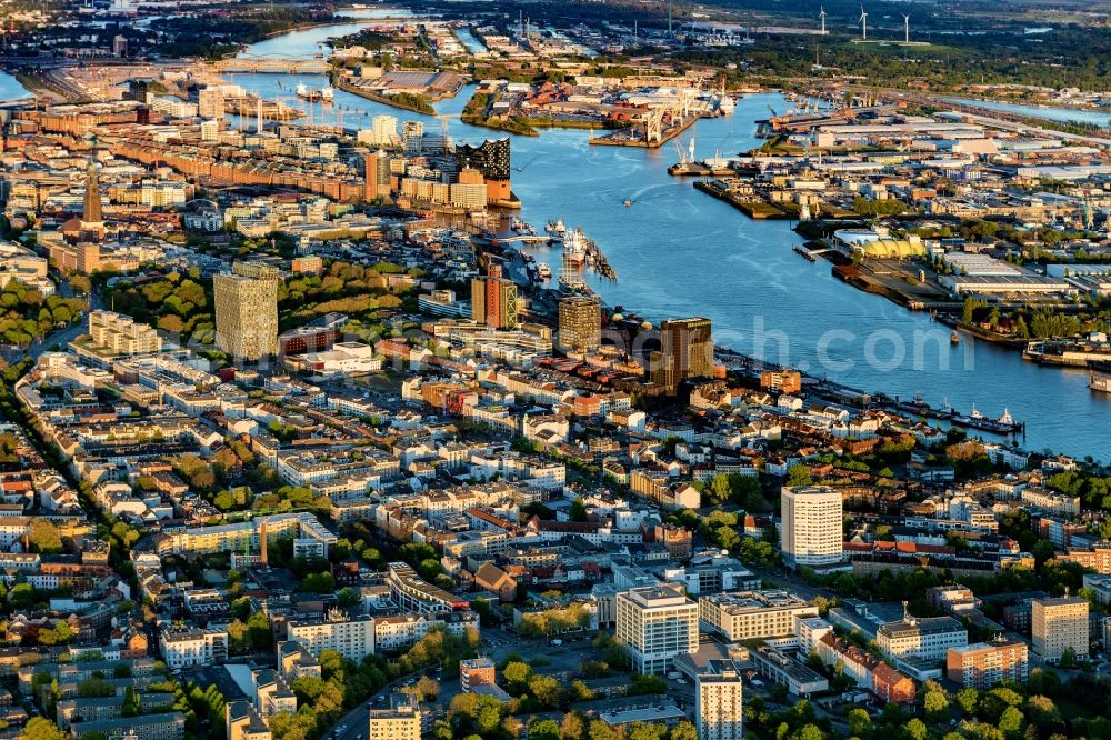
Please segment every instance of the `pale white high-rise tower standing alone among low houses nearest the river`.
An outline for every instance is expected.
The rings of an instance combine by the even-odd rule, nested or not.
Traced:
[[[791,567],[828,566],[841,560],[841,492],[825,486],[784,487],[783,560]]]

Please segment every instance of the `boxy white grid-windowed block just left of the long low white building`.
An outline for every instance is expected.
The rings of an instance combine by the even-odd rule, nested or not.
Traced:
[[[698,604],[673,583],[619,593],[617,623],[638,673],[662,673],[678,656],[698,650]]]

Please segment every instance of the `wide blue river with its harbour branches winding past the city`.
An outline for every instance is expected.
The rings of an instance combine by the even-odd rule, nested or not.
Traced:
[[[359,23],[298,31],[254,44],[248,53],[312,54],[328,37],[354,32]],[[236,81],[263,96],[288,96],[298,82],[321,87],[322,76],[240,74]],[[279,87],[279,82],[281,87]],[[503,136],[463,124],[464,90],[440,102],[450,132],[478,141]],[[777,94],[740,100],[729,118],[700,121],[697,156],[735,154],[758,144],[754,121]],[[373,116],[436,119],[336,93],[348,127],[369,126]],[[334,110],[334,109],[333,109]],[[316,107],[314,116],[321,108]],[[331,113],[329,113],[331,114]],[[550,130],[513,138],[513,191],[522,218],[538,228],[562,218],[581,226],[619,273],[615,283],[592,281],[607,303],[652,321],[707,316],[714,340],[741,352],[828,376],[868,391],[957,409],[972,404],[998,417],[1004,409],[1028,424],[1027,449],[1111,460],[1111,398],[1088,389],[1087,373],[1040,368],[1017,352],[970,337],[949,342],[949,330],[928,314],[860,292],[832,277],[823,260],[811,263],[792,251],[801,239],[782,221],[752,221],[725,203],[672,178],[673,147],[642,150],[591,147],[581,130]],[[623,203],[632,200],[631,207]],[[537,258],[558,269],[557,250]]]

